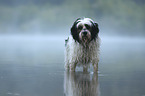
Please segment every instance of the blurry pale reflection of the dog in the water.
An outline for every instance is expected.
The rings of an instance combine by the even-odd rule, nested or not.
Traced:
[[[64,96],[100,96],[98,73],[65,72]]]

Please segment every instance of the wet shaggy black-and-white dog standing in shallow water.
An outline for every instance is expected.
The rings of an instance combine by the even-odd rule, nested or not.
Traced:
[[[65,68],[75,71],[82,66],[87,71],[90,64],[98,71],[100,38],[98,24],[90,18],[78,18],[65,40]]]

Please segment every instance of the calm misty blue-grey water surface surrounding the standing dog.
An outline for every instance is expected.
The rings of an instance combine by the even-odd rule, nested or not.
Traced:
[[[0,36],[0,96],[145,96],[145,39],[102,37],[99,74],[66,72],[64,39]]]

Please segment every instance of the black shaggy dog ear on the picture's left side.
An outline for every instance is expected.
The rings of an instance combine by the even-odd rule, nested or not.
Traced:
[[[71,27],[71,35],[73,36],[73,39],[75,41],[78,41],[79,42],[79,35],[78,35],[78,32],[77,32],[77,24],[79,23],[79,20],[81,20],[81,18],[78,18],[73,26]]]

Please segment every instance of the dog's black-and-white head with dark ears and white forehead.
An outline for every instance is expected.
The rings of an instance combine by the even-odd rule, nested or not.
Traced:
[[[89,43],[98,37],[98,24],[90,18],[78,18],[72,28],[71,35],[75,41],[79,43]]]

